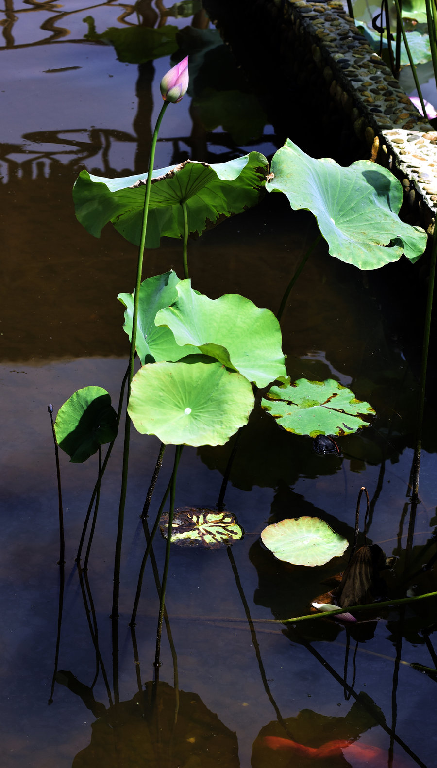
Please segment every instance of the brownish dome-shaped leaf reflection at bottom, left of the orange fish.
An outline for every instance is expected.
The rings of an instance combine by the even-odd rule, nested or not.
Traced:
[[[197,694],[159,683],[152,711],[151,682],[144,694],[110,707],[93,723],[91,743],[72,768],[239,768],[237,735],[205,707]]]

